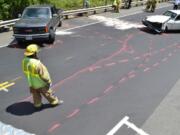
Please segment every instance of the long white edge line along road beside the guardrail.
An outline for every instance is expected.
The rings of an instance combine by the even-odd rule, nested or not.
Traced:
[[[170,5],[162,6],[162,7],[159,7],[159,8],[157,8],[157,9],[166,8],[166,7],[170,7]],[[130,13],[130,14],[127,14],[127,15],[122,15],[122,16],[120,16],[120,17],[116,17],[115,19],[123,18],[123,17],[127,17],[127,16],[131,16],[131,15],[135,15],[135,14],[140,14],[140,13],[142,13],[142,12],[144,12],[144,11],[137,11],[137,12]],[[65,30],[63,30],[63,31],[65,32],[65,31],[70,31],[70,30],[74,30],[74,29],[79,29],[79,28],[83,28],[83,27],[90,26],[90,25],[98,24],[98,23],[101,23],[101,22],[102,22],[102,21],[94,22],[94,23],[89,23],[89,24],[85,24],[85,25],[81,25],[81,26],[77,26],[77,27],[65,29]],[[13,41],[13,40],[12,40],[12,41]],[[4,45],[4,46],[0,46],[0,48],[7,47],[7,46],[9,46],[9,44],[6,44],[6,45]]]

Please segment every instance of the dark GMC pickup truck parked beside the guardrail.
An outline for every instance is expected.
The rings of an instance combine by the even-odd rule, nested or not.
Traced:
[[[13,36],[18,43],[24,41],[53,43],[56,28],[62,25],[62,19],[62,10],[57,10],[53,5],[26,7],[13,26]]]

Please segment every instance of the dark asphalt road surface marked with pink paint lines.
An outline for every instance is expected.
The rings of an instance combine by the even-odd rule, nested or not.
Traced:
[[[64,100],[55,108],[44,100],[43,110],[33,109],[21,71],[23,47],[1,48],[0,120],[37,135],[106,135],[125,116],[143,127],[180,78],[179,33],[147,30],[141,20],[150,14],[108,17],[41,47],[39,57],[52,76],[55,95]],[[104,19],[99,16],[90,19]],[[123,125],[116,134],[136,132]]]

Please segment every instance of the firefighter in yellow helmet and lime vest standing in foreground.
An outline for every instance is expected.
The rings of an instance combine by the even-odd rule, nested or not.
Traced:
[[[51,78],[46,66],[38,59],[39,48],[36,44],[27,46],[22,60],[22,69],[28,80],[30,93],[33,97],[34,107],[42,108],[42,96],[44,96],[52,106],[62,104],[63,101],[53,95]]]

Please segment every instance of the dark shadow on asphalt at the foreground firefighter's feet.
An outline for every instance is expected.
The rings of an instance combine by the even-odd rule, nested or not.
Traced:
[[[31,115],[33,113],[40,112],[48,108],[53,108],[53,107],[50,104],[44,104],[41,109],[37,110],[34,108],[31,102],[19,102],[8,106],[6,108],[6,112],[13,115],[23,116],[23,115]]]

